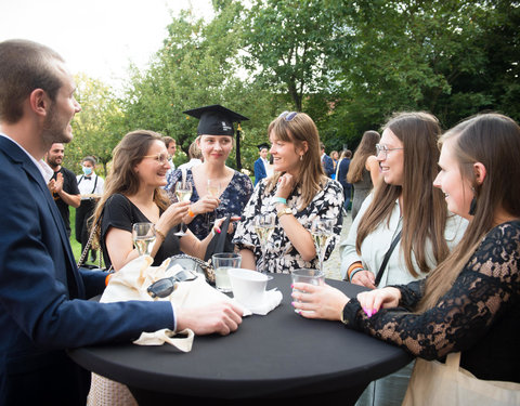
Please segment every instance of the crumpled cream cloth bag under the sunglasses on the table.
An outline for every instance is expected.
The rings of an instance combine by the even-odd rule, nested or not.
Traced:
[[[153,259],[150,256],[142,256],[126,264],[120,271],[116,272],[108,283],[101,302],[120,302],[128,300],[167,300],[173,302],[176,307],[197,307],[214,302],[229,301],[233,299],[212,288],[203,275],[195,280],[182,281],[178,288],[167,298],[153,299],[146,289],[158,279],[173,276],[182,270],[180,265],[174,265],[167,270],[170,259],[166,259],[160,266],[151,266]],[[250,315],[245,306],[238,303],[243,309],[244,316]],[[176,336],[172,330],[161,329],[155,332],[142,332],[140,338],[133,341],[139,345],[161,345],[168,343],[177,346],[183,352],[190,352],[194,340],[194,332],[191,329],[178,331],[183,336]]]

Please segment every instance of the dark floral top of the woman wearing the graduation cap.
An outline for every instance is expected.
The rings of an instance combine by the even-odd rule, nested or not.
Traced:
[[[181,178],[182,171],[178,169],[172,173],[170,179],[171,182],[168,183],[171,186],[167,192],[172,201],[177,201],[174,185],[178,181],[181,180]],[[186,180],[192,184],[193,187],[192,197],[190,200],[192,202],[195,202],[200,198],[200,196],[198,196],[195,183],[193,182],[193,173],[191,169],[186,171]],[[192,231],[193,234],[195,234],[198,239],[206,238],[211,232],[211,225],[214,223],[216,219],[224,218],[229,213],[232,213],[233,215],[242,215],[244,207],[249,200],[251,194],[252,182],[249,176],[238,171],[235,171],[230,184],[219,197],[219,207],[212,212],[197,214],[187,227]]]

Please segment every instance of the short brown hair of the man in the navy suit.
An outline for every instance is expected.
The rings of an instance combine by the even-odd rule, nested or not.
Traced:
[[[17,122],[24,101],[36,89],[55,101],[63,84],[56,62],[65,61],[40,43],[22,39],[0,42],[0,121]]]

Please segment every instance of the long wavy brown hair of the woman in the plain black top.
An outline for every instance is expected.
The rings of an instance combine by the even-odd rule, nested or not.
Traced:
[[[92,224],[95,224],[100,218],[105,201],[115,194],[131,196],[139,191],[139,178],[134,167],[143,160],[154,141],[162,142],[162,135],[146,130],[136,130],[126,134],[119,144],[114,148],[114,159],[110,170],[105,181],[105,191],[98,202],[93,215]],[[166,192],[156,187],[154,191],[154,201],[161,210],[170,205]],[[99,241],[100,236],[95,237]]]

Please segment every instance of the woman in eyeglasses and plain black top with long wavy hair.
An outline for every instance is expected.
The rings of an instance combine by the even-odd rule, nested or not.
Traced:
[[[112,264],[118,271],[139,256],[133,247],[132,224],[140,222],[155,224],[154,265],[180,251],[204,258],[211,234],[203,241],[190,231],[181,238],[174,235],[190,202],[170,205],[162,189],[169,168],[165,143],[155,132],[130,132],[114,149],[105,193],[92,223],[102,217],[99,239],[106,266]]]

